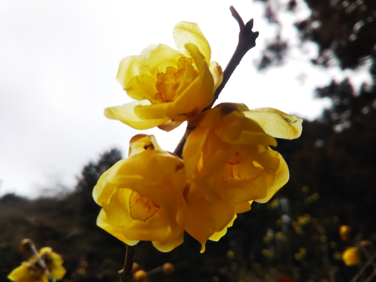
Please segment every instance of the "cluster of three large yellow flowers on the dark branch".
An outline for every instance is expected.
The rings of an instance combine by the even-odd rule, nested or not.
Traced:
[[[136,129],[169,131],[188,120],[183,158],[162,150],[153,135],[130,140],[129,157],[102,174],[93,190],[102,206],[97,224],[129,245],[152,241],[162,252],[183,242],[184,230],[202,244],[218,241],[237,213],[267,202],[288,180],[272,150],[275,138],[294,139],[302,119],[244,104],[208,107],[221,67],[195,23],[173,30],[178,51],[150,45],[120,62],[117,79],[135,101],[105,109]]]

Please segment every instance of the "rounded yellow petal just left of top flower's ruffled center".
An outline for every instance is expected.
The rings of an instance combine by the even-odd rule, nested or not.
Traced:
[[[141,76],[132,77],[129,80],[125,91],[132,99],[136,100],[149,100],[154,103],[158,99],[155,98],[155,95],[158,93],[156,84],[158,79],[155,76],[143,74]]]

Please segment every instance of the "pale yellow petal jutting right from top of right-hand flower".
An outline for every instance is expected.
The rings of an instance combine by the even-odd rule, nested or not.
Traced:
[[[253,109],[245,111],[244,115],[256,121],[268,135],[275,138],[294,139],[302,133],[302,118],[273,108]]]

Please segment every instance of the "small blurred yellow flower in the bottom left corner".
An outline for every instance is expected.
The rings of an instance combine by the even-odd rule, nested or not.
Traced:
[[[39,250],[39,256],[44,260],[50,271],[53,281],[61,280],[65,275],[65,268],[62,266],[63,260],[60,255],[52,252],[50,247]],[[8,278],[15,282],[48,282],[47,275],[38,264],[38,258],[32,256],[29,261],[12,270]]]

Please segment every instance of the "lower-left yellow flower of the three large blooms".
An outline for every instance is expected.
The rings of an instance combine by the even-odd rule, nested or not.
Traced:
[[[130,140],[129,157],[102,174],[93,190],[97,225],[128,245],[152,241],[162,252],[183,243],[186,175],[182,159],[153,135]]]

